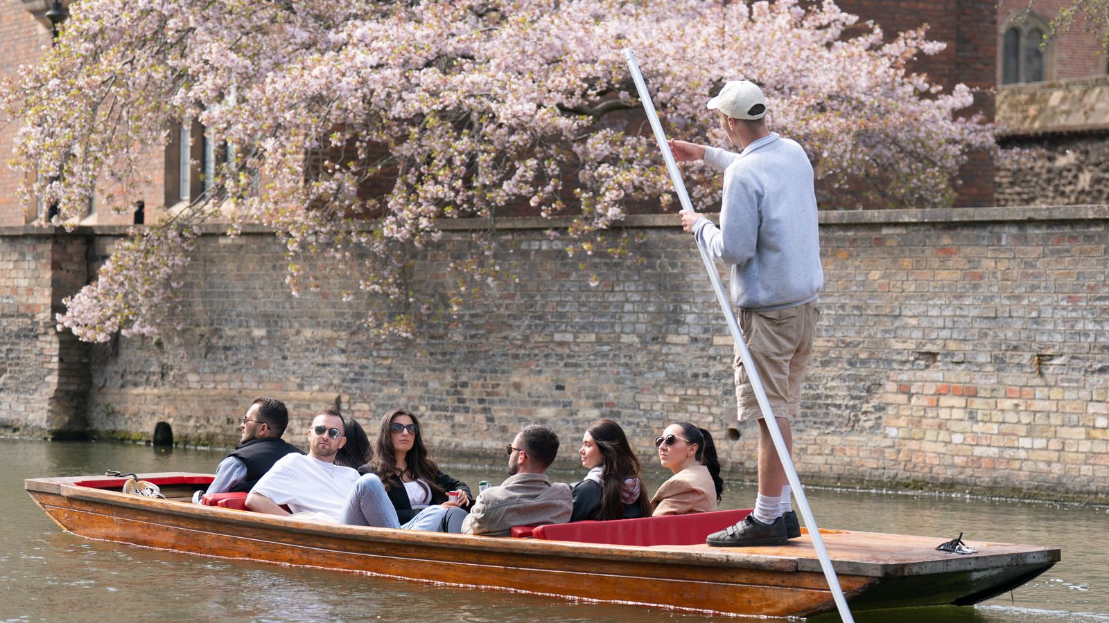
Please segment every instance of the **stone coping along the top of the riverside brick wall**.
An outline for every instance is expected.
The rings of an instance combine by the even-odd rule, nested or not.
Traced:
[[[718,213],[706,214],[713,221]],[[929,223],[973,223],[973,222],[1049,222],[1049,221],[1101,221],[1109,219],[1109,204],[1087,205],[1028,205],[1019,207],[943,207],[943,208],[907,208],[907,210],[823,210],[820,213],[821,225],[914,225]],[[541,216],[515,216],[496,219],[496,226],[501,231],[509,229],[559,229],[569,226],[569,216],[543,218]],[[450,218],[440,219],[438,226],[442,231],[486,229],[491,223],[488,218]],[[678,228],[681,223],[676,214],[633,214],[617,224],[617,227],[630,228]],[[123,236],[131,225],[82,225],[67,233],[62,227],[40,227],[38,225],[0,226],[0,236]],[[368,224],[367,224],[368,227]],[[211,223],[204,225],[205,235],[222,235],[226,233],[225,224]],[[265,225],[244,225],[243,234],[268,234],[273,228]]]

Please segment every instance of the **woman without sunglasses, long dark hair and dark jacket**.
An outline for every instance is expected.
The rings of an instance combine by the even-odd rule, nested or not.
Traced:
[[[649,517],[651,503],[642,492],[642,468],[620,425],[597,420],[589,425],[578,450],[586,479],[570,486],[570,521],[607,521]]]

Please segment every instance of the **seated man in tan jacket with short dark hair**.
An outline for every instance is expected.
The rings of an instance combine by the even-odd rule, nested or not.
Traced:
[[[513,525],[570,521],[570,487],[551,484],[547,479],[547,468],[558,455],[554,431],[543,425],[528,425],[505,450],[509,478],[478,496],[462,522],[462,533],[508,537]]]

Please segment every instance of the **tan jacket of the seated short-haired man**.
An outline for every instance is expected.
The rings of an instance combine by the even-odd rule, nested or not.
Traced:
[[[462,534],[508,537],[513,525],[566,523],[571,512],[568,484],[551,484],[546,473],[518,473],[478,496],[462,521]]]

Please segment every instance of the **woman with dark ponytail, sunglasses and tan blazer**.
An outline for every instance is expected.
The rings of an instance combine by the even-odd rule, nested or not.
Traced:
[[[685,514],[716,510],[724,493],[712,435],[690,422],[674,422],[654,440],[659,462],[674,476],[651,498],[653,514]]]

